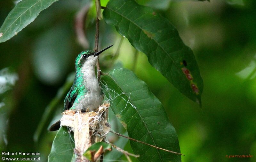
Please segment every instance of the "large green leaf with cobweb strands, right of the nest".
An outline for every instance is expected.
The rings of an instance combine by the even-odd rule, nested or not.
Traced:
[[[145,82],[128,69],[115,69],[101,77],[101,88],[129,137],[180,153],[176,131],[162,103]],[[130,141],[140,161],[181,161],[180,155]]]

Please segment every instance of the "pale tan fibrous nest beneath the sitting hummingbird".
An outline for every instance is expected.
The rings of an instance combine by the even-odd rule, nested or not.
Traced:
[[[110,130],[108,119],[109,103],[104,102],[98,109],[83,113],[66,110],[62,113],[60,126],[68,126],[74,132],[76,161],[88,161],[84,152],[94,143],[106,141]]]

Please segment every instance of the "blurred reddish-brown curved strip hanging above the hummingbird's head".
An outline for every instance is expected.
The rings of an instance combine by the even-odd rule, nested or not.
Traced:
[[[89,48],[89,42],[86,39],[84,31],[84,21],[86,20],[87,13],[90,9],[90,5],[85,5],[82,7],[76,14],[75,28],[76,28],[76,37],[78,43],[84,48]]]

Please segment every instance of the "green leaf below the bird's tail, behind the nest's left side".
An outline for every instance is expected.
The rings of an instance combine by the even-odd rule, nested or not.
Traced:
[[[73,133],[67,127],[60,127],[52,143],[52,150],[48,162],[71,161],[75,149]]]

